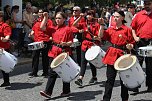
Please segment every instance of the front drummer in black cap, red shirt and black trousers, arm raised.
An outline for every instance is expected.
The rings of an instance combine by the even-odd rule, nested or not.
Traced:
[[[117,71],[114,68],[114,63],[117,58],[124,55],[124,53],[128,53],[128,50],[133,48],[133,37],[131,33],[131,29],[124,25],[125,14],[123,11],[117,11],[114,13],[114,21],[116,25],[113,27],[109,27],[104,31],[104,20],[100,20],[101,24],[101,35],[103,40],[107,40],[112,43],[112,46],[108,48],[105,57],[103,58],[103,63],[107,64],[107,81],[105,84],[105,92],[103,96],[103,101],[110,101],[112,89],[114,86],[115,78]],[[120,80],[121,84],[121,99],[122,101],[128,101],[129,94],[127,87],[124,86],[122,80]]]

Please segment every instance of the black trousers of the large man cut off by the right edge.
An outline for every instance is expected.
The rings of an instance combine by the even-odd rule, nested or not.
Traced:
[[[146,41],[145,39],[141,39],[138,43],[136,43],[136,50],[138,50],[139,47],[144,47],[149,45],[150,41]],[[138,52],[136,51],[136,56],[139,60],[140,65],[142,66],[144,57],[139,56]],[[146,86],[149,88],[152,88],[152,57],[145,57],[145,63],[146,63]]]

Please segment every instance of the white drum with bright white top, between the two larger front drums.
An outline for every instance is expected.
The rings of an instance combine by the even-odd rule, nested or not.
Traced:
[[[102,58],[105,56],[105,52],[99,46],[92,46],[85,53],[85,58],[91,64],[97,68],[104,66]]]

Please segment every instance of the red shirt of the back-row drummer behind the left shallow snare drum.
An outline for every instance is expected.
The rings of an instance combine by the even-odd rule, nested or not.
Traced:
[[[32,30],[34,31],[34,41],[39,42],[39,41],[44,41],[48,42],[50,40],[51,36],[51,27],[53,25],[52,21],[48,19],[47,21],[47,26],[46,26],[46,31],[43,31],[40,29],[42,19],[39,18],[38,21],[34,24]]]

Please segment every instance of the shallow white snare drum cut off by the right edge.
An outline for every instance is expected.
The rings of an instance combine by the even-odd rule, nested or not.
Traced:
[[[152,57],[152,46],[139,47],[138,54],[144,57]]]

